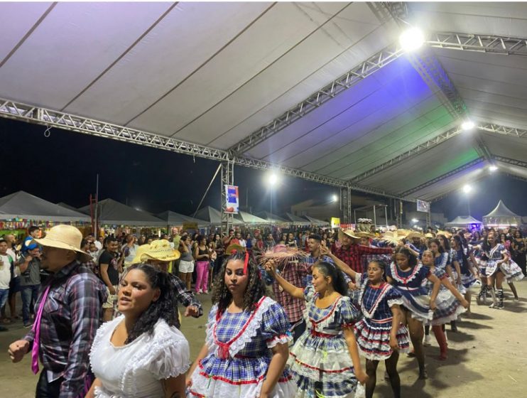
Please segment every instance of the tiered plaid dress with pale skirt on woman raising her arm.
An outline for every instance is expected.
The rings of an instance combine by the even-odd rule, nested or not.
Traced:
[[[288,367],[298,386],[290,398],[314,398],[315,387],[325,398],[351,397],[357,379],[342,330],[353,327],[359,311],[348,296],[327,308],[315,306],[317,297],[309,284],[304,290],[307,329],[289,353]]]

